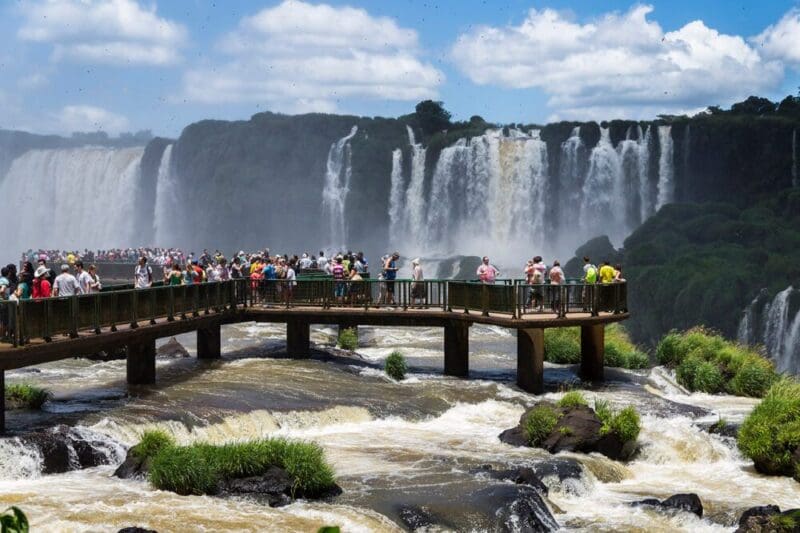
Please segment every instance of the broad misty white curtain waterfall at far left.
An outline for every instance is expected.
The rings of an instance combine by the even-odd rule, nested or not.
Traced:
[[[30,150],[0,184],[4,249],[110,248],[149,244],[136,235],[135,198],[144,147]],[[147,240],[149,241],[149,235]]]

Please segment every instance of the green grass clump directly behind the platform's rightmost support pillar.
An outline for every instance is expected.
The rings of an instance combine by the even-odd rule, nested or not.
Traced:
[[[576,364],[581,360],[580,328],[551,328],[544,332],[544,357],[557,364]],[[647,354],[630,340],[625,329],[612,324],[605,332],[605,364],[621,368],[646,368]]]

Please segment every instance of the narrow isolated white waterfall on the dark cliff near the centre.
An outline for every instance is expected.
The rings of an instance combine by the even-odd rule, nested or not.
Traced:
[[[332,143],[328,150],[325,186],[322,189],[322,210],[325,213],[323,219],[328,222],[329,242],[332,247],[344,247],[347,243],[345,204],[353,173],[350,139],[357,132],[358,126],[353,126],[350,133]]]

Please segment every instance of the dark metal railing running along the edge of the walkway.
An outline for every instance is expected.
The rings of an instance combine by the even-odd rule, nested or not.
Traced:
[[[136,328],[159,319],[184,320],[237,307],[392,308],[446,312],[499,313],[513,319],[530,315],[566,317],[627,312],[625,283],[527,285],[521,280],[474,281],[333,279],[237,279],[217,283],[128,289],[64,298],[0,302],[2,342],[21,346],[32,339]]]

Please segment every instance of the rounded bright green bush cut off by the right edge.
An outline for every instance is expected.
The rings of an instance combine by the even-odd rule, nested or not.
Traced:
[[[745,419],[737,443],[759,472],[800,481],[800,383],[775,383]]]

